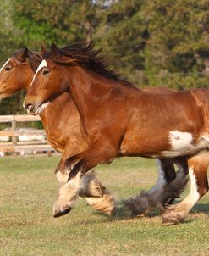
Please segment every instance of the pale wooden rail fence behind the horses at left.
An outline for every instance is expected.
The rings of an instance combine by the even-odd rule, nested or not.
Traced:
[[[0,157],[3,157],[7,153],[20,155],[28,153],[48,153],[48,155],[51,155],[52,152],[54,152],[54,149],[47,142],[47,136],[44,130],[18,129],[19,122],[34,121],[41,121],[41,119],[37,115],[33,116],[27,114],[0,115],[0,123],[11,123],[10,128],[0,131],[0,137],[9,137],[8,142],[0,142]],[[21,136],[27,136],[29,140],[21,141],[19,139]],[[36,136],[41,136],[41,140],[36,140]]]

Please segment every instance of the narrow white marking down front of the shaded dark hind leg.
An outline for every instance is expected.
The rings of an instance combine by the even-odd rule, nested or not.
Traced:
[[[153,198],[158,198],[158,196],[161,195],[166,185],[166,180],[164,178],[164,171],[162,170],[162,164],[159,159],[157,159],[157,165],[158,165],[158,180],[156,182],[156,185],[153,186],[151,190],[147,192],[147,194],[153,196]]]

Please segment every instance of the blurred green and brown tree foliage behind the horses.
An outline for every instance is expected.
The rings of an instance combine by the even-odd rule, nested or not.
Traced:
[[[208,84],[207,0],[1,0],[0,11],[2,64],[20,47],[94,40],[136,86]],[[3,100],[0,111],[17,104]]]

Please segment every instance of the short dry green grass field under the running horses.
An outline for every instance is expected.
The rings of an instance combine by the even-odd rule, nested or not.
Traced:
[[[209,193],[180,225],[162,226],[157,212],[107,217],[83,198],[70,214],[54,219],[58,159],[0,159],[0,255],[209,255]],[[157,180],[149,159],[116,159],[96,174],[118,200]]]

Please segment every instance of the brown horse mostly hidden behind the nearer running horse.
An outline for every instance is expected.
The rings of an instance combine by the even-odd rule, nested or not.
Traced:
[[[41,60],[41,53],[32,52],[27,48],[15,52],[12,58],[9,58],[6,64],[3,65],[2,72],[0,72],[1,96],[7,97],[21,89],[27,91]],[[157,93],[175,92],[165,87],[147,88],[145,90],[147,92]],[[68,93],[63,93],[63,95],[48,105],[40,115],[47,131],[48,141],[52,147],[63,153],[63,158],[56,170],[58,180],[67,181],[66,173],[69,170],[66,170],[63,163],[67,157],[80,153],[87,148],[87,143],[80,134],[80,117],[78,111],[75,109],[74,103]],[[173,203],[173,200],[179,197],[179,193],[183,190],[187,182],[186,175],[184,175],[184,172],[187,174],[186,166],[183,166],[184,170],[180,167],[176,177],[173,161],[160,159],[158,164],[159,178],[157,184],[150,192],[143,192],[137,198],[126,201],[126,205],[135,215],[145,212],[146,209],[154,208],[157,204]],[[95,209],[99,209],[106,214],[111,214],[114,207],[113,197],[107,193],[104,186],[96,180],[93,174],[85,175],[85,179],[83,179],[85,182],[83,183],[86,188],[85,192],[80,191],[80,195],[87,197],[86,200]],[[169,186],[167,186],[168,183]],[[100,198],[90,198],[90,195],[94,197],[100,196]]]

